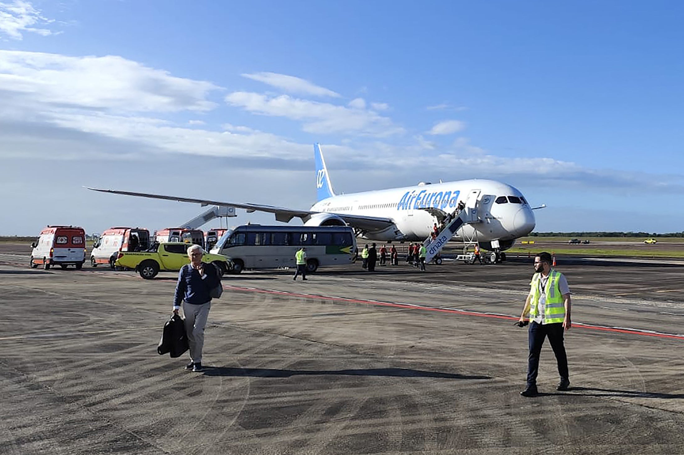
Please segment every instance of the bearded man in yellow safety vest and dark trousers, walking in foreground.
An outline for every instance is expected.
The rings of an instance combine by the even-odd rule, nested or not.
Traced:
[[[568,357],[563,344],[563,331],[570,330],[570,288],[565,276],[551,268],[551,255],[539,253],[534,258],[534,275],[530,281],[529,295],[523,307],[518,324],[525,322],[529,312],[529,357],[527,361],[527,387],[521,391],[522,396],[531,397],[538,394],[537,372],[539,355],[542,352],[544,338],[549,337],[558,363],[560,383],[556,390],[567,390],[570,387],[568,378]]]

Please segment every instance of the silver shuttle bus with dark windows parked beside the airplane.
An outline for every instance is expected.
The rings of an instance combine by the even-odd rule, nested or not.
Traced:
[[[306,247],[306,271],[319,266],[350,264],[356,249],[348,226],[244,225],[227,230],[211,253],[233,260],[233,273],[244,268],[295,267],[295,253]]]

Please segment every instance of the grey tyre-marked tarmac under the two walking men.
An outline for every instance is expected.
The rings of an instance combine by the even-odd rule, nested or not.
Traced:
[[[570,390],[523,398],[531,260],[226,275],[203,373],[156,353],[175,273],[0,248],[2,454],[684,453],[684,266],[564,258]]]

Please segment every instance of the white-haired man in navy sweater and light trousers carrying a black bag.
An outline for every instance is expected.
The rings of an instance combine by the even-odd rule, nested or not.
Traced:
[[[202,371],[202,347],[205,344],[205,327],[211,307],[209,292],[221,284],[215,266],[202,262],[203,253],[199,245],[192,245],[187,249],[190,263],[184,265],[178,274],[173,301],[174,314],[178,314],[183,301],[185,333],[190,346],[190,363],[185,368],[194,372]]]

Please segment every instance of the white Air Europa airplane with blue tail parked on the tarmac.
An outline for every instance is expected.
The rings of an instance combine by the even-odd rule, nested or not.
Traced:
[[[294,217],[304,225],[349,225],[356,234],[380,242],[393,240],[423,241],[430,236],[434,223],[443,221],[460,202],[465,205],[467,222],[453,240],[477,241],[484,249],[501,251],[512,247],[515,239],[534,230],[533,208],[523,194],[508,184],[495,180],[459,180],[439,184],[419,183],[415,187],[365,191],[336,195],[319,144],[313,146],[316,163],[318,202],[309,210],[237,204],[147,193],[96,189],[116,193],[171,201],[194,202],[213,206],[233,206],[248,212],[270,212],[277,221],[287,223]],[[492,247],[492,240],[498,241]]]

